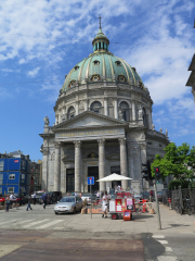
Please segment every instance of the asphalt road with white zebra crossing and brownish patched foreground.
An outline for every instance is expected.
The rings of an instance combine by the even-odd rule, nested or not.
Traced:
[[[78,221],[80,213],[55,215],[53,206],[0,211],[1,260],[128,260],[194,261],[194,234],[89,232],[67,229],[64,223]],[[101,216],[100,216],[101,219]],[[95,221],[94,221],[95,222]],[[105,224],[120,221],[105,220]],[[121,221],[122,222],[122,221]],[[128,223],[126,223],[128,224]],[[140,223],[142,224],[142,223]]]

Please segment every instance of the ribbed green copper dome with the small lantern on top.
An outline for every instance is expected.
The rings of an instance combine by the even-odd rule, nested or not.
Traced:
[[[135,69],[108,51],[109,40],[103,34],[102,28],[99,29],[92,45],[93,52],[72,69],[65,78],[62,91],[66,91],[77,84],[94,82],[120,82],[143,87]]]

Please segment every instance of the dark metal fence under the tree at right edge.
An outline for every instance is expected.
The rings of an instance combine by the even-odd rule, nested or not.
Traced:
[[[164,190],[162,203],[168,207],[169,198],[171,199],[171,208],[176,210],[177,206],[179,204],[183,214],[185,214],[187,210],[187,200],[190,200],[191,206],[195,208],[195,188]]]

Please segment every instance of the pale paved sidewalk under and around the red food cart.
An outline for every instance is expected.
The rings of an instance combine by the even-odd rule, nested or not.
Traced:
[[[153,208],[155,209],[155,202]],[[64,231],[107,232],[107,233],[164,233],[164,234],[194,234],[194,216],[177,214],[167,206],[160,204],[161,231],[158,229],[157,214],[135,214],[132,221],[102,219],[101,214],[79,214],[64,223]],[[61,227],[62,231],[62,227]]]

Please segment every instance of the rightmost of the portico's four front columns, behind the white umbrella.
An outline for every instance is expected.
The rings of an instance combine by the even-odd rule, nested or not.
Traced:
[[[120,174],[122,176],[128,176],[128,167],[127,167],[127,149],[126,149],[126,138],[119,138],[120,144]],[[128,181],[121,182],[121,187],[123,189],[128,188]]]

